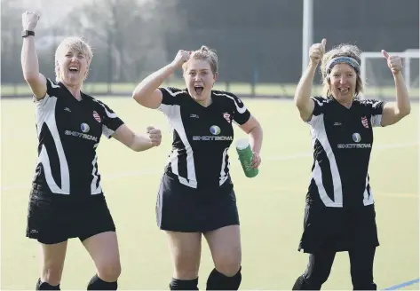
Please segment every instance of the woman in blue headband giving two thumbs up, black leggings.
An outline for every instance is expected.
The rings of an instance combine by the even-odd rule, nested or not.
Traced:
[[[360,99],[361,51],[340,44],[325,52],[326,40],[313,44],[310,63],[297,85],[295,103],[311,127],[312,177],[306,194],[304,232],[298,250],[309,263],[294,290],[320,290],[337,252],[350,257],[353,289],[375,290],[373,262],[379,246],[368,164],[373,127],[399,122],[410,113],[401,60],[382,51],[395,83],[396,102]],[[321,61],[323,96],[310,97]]]

